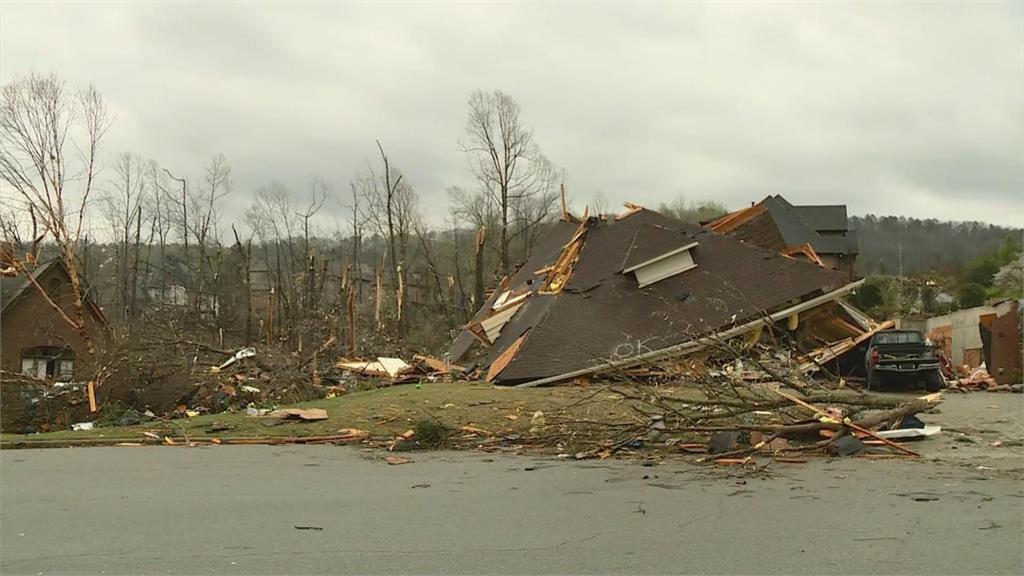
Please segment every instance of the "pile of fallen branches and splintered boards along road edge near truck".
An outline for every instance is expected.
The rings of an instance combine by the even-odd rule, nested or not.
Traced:
[[[939,431],[914,417],[937,406],[940,394],[907,400],[852,390],[786,392],[778,382],[745,386],[730,398],[694,397],[692,390],[646,384],[600,388],[635,412],[632,421],[549,414],[528,435],[501,442],[553,447],[564,456],[646,456],[650,451],[706,454],[698,461],[751,463],[758,457],[811,453],[870,457],[918,456],[896,442]],[[487,444],[479,444],[486,448]],[[737,461],[739,458],[741,461]]]

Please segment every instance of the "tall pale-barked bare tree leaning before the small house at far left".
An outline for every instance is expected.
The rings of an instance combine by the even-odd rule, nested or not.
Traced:
[[[31,213],[41,234],[56,245],[71,276],[72,315],[38,283],[33,285],[79,332],[89,354],[94,347],[85,325],[76,248],[93,191],[99,142],[111,122],[95,87],[71,93],[53,75],[16,78],[0,93],[0,180],[12,191],[10,201]],[[31,280],[31,261],[15,258],[13,263]]]

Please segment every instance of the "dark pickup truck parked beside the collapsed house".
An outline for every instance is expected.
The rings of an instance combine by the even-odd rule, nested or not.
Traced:
[[[867,389],[910,380],[928,392],[942,387],[939,359],[916,330],[882,330],[871,336],[864,357]]]

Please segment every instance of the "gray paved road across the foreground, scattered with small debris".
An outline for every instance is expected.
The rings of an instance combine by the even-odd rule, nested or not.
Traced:
[[[0,573],[1024,573],[1024,487],[998,472],[846,459],[742,479],[684,462],[380,457],[3,451]]]

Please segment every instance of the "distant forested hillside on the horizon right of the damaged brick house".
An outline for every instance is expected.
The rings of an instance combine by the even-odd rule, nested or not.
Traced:
[[[899,270],[900,244],[903,246],[903,273],[927,271],[955,273],[976,258],[999,248],[1008,235],[1021,235],[1009,229],[982,222],[919,220],[896,216],[851,216],[850,228],[860,236],[858,273],[863,276],[896,274]]]

